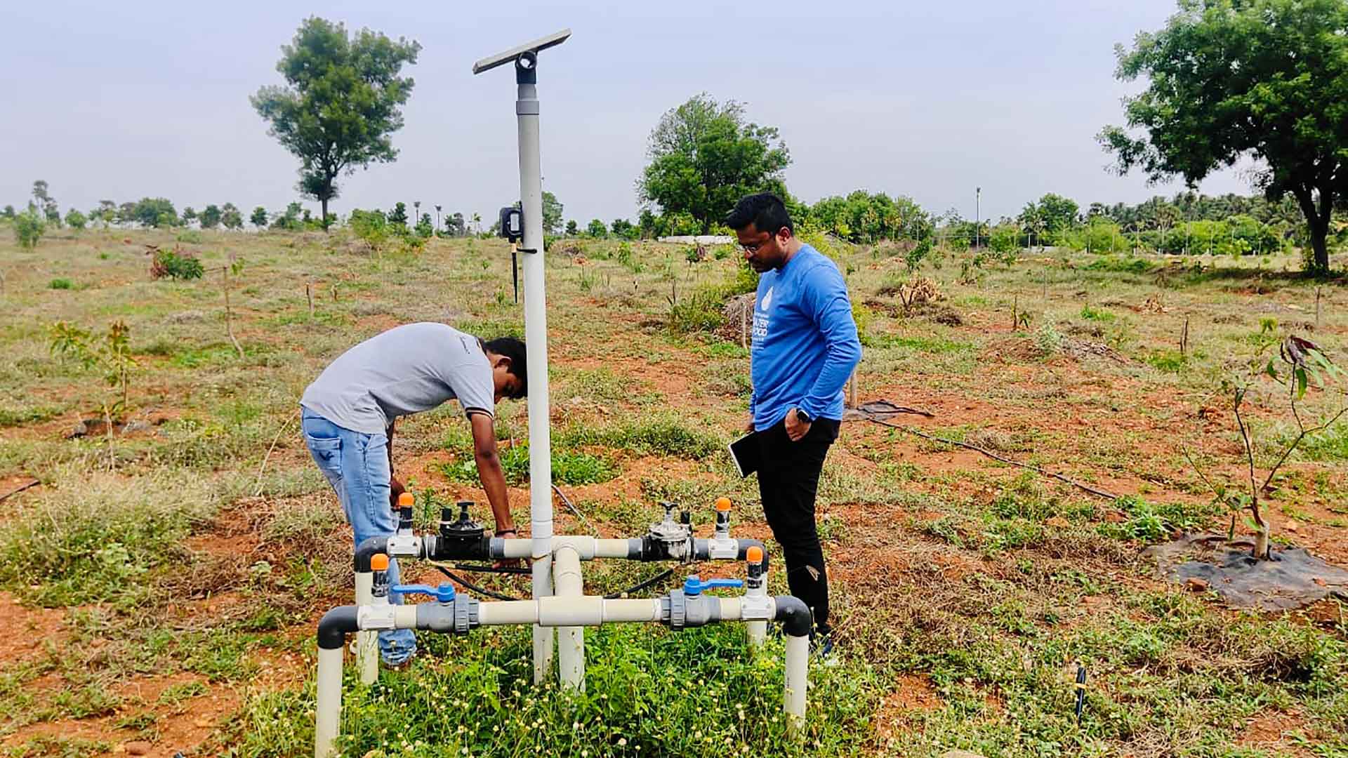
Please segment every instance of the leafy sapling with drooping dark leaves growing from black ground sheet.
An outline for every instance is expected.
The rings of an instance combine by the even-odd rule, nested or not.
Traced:
[[[1247,364],[1247,371],[1237,376],[1229,376],[1221,383],[1221,394],[1231,399],[1231,410],[1236,418],[1236,429],[1240,432],[1240,444],[1246,464],[1246,482],[1232,486],[1224,483],[1215,484],[1194,463],[1193,457],[1189,456],[1189,450],[1184,450],[1189,464],[1198,472],[1204,484],[1212,490],[1215,502],[1220,503],[1229,511],[1231,526],[1227,534],[1228,540],[1235,537],[1237,517],[1248,513],[1246,525],[1255,531],[1255,545],[1251,554],[1259,560],[1267,560],[1270,557],[1270,537],[1273,531],[1263,511],[1260,496],[1268,490],[1274,476],[1277,476],[1278,471],[1282,469],[1283,464],[1287,463],[1287,459],[1291,457],[1291,453],[1306,440],[1308,436],[1329,429],[1339,421],[1340,417],[1344,415],[1344,413],[1348,413],[1348,405],[1340,405],[1339,410],[1322,414],[1317,422],[1308,426],[1309,421],[1304,407],[1306,390],[1312,386],[1321,390],[1328,388],[1330,382],[1340,379],[1343,370],[1335,366],[1325,356],[1324,351],[1310,340],[1293,334],[1289,334],[1281,343],[1270,339],[1274,328],[1275,326],[1271,320],[1262,322],[1259,332],[1259,348],[1256,349],[1254,359]],[[1278,344],[1278,355],[1264,360],[1264,353],[1274,344]],[[1258,468],[1255,464],[1255,430],[1246,418],[1246,413],[1243,410],[1250,390],[1255,387],[1255,382],[1260,378],[1260,375],[1273,379],[1281,386],[1274,397],[1286,399],[1287,413],[1297,425],[1297,434],[1291,438],[1291,441],[1281,448],[1274,464],[1268,468],[1262,482],[1256,476],[1255,471]]]

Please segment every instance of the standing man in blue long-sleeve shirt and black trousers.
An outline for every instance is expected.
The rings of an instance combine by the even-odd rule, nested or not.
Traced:
[[[751,194],[725,217],[760,274],[754,303],[749,429],[759,442],[759,495],[782,545],[791,595],[814,612],[828,654],[829,584],[814,523],[814,495],[842,421],[842,386],[861,360],[847,283],[794,233],[779,197]]]

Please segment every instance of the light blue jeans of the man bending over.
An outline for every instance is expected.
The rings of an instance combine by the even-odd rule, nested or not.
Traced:
[[[383,433],[364,434],[337,426],[322,415],[302,407],[301,428],[309,455],[324,472],[328,483],[341,500],[356,533],[356,545],[371,537],[392,537],[398,531],[398,517],[388,503],[388,437]],[[388,584],[398,584],[398,561],[388,561]],[[402,603],[402,595],[391,596]],[[396,666],[417,651],[417,635],[410,629],[379,633],[379,655]]]

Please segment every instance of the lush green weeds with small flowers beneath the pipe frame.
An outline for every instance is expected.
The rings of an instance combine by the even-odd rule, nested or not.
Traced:
[[[493,643],[427,637],[438,665],[350,688],[342,750],[452,755],[853,755],[865,742],[878,697],[863,664],[821,669],[814,718],[803,740],[786,735],[780,713],[780,643],[764,655],[745,649],[736,626],[671,634],[636,624],[586,633],[586,689],[562,696],[534,688],[527,627],[491,633]],[[716,650],[716,654],[708,654]],[[299,751],[313,731],[311,688],[253,701],[228,740],[256,754],[272,740]],[[430,697],[426,697],[430,695]],[[407,703],[408,711],[387,703]],[[288,735],[288,736],[287,736]],[[287,750],[288,751],[288,750]]]

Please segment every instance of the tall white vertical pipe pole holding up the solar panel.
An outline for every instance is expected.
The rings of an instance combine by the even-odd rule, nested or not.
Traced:
[[[516,63],[518,66],[518,63]],[[547,407],[547,297],[543,287],[543,173],[538,147],[538,86],[520,82],[519,200],[524,216],[524,349],[528,356],[528,519],[534,538],[534,597],[553,593],[553,445]],[[534,684],[553,668],[553,630],[534,627]]]

